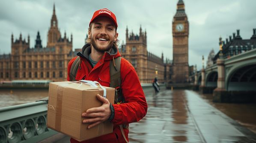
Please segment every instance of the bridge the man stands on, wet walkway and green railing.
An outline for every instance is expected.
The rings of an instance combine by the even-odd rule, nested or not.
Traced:
[[[146,117],[130,124],[131,143],[255,142],[255,133],[227,117],[192,90],[164,90],[154,96],[143,85]],[[42,101],[0,108],[0,143],[69,143],[69,137],[47,128]]]

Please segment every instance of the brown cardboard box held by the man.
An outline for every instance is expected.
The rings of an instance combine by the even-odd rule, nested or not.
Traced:
[[[115,89],[106,88],[107,99],[114,103]],[[87,129],[89,125],[82,123],[82,117],[87,109],[99,107],[102,102],[96,95],[103,96],[103,89],[86,83],[51,82],[49,85],[48,128],[67,134],[79,140],[88,140],[113,132],[113,124],[109,121]]]

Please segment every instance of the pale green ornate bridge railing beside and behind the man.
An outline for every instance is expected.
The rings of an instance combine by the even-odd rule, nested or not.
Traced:
[[[142,87],[154,91],[152,84]],[[0,108],[0,143],[36,143],[58,134],[47,128],[47,99]]]

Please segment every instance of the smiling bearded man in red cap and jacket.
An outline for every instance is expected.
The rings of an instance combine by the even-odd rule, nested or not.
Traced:
[[[100,9],[94,12],[89,23],[88,39],[77,57],[68,63],[68,81],[91,80],[110,87],[110,63],[117,70],[116,59],[121,55],[117,49],[117,21],[113,12]],[[77,69],[74,65],[77,64]],[[72,71],[76,71],[72,74]],[[118,70],[117,70],[118,71]],[[97,95],[102,105],[90,108],[81,116],[88,129],[104,121],[113,123],[113,133],[85,140],[83,143],[125,143],[128,142],[129,123],[142,119],[147,112],[147,103],[134,67],[124,58],[120,62],[121,84],[116,87],[115,104]],[[112,83],[113,84],[113,83]],[[116,84],[116,83],[115,83]],[[71,138],[71,143],[78,143]]]

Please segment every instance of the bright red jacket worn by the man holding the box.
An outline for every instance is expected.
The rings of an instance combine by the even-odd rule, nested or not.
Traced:
[[[77,70],[76,80],[91,80],[97,81],[103,86],[110,86],[110,61],[113,58],[121,56],[119,51],[113,47],[111,52],[105,52],[102,58],[98,61],[95,67],[92,67],[92,64],[89,61],[89,53],[91,53],[91,47],[89,44],[83,46],[82,51],[77,53],[80,56],[81,62],[80,67]],[[68,78],[70,68],[74,60],[72,58],[68,63]],[[121,72],[121,87],[122,94],[125,98],[125,103],[122,104],[113,104],[114,107],[114,117],[111,121],[114,125],[113,133],[106,134],[100,137],[93,138],[91,140],[83,141],[83,143],[125,143],[125,140],[122,136],[119,125],[125,123],[138,122],[142,119],[147,113],[147,103],[145,95],[143,93],[142,87],[140,85],[139,78],[137,76],[134,67],[124,58],[121,59],[120,65]],[[124,128],[126,139],[128,140],[129,130]],[[71,143],[79,143],[77,140],[71,138]]]

